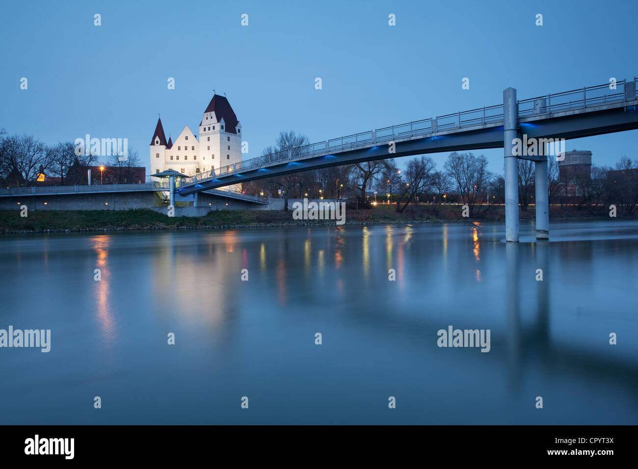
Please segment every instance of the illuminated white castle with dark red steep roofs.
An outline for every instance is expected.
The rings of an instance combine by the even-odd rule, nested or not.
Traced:
[[[150,156],[151,176],[167,169],[191,176],[240,163],[241,124],[225,96],[214,94],[200,122],[199,140],[186,126],[175,142],[167,142],[158,119]]]

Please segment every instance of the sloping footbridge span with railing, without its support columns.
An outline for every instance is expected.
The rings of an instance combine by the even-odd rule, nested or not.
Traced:
[[[638,128],[636,78],[584,87],[518,101],[518,121],[528,137],[575,138]],[[624,115],[623,115],[624,114]],[[584,123],[586,116],[597,121]],[[177,190],[188,195],[202,190],[357,161],[380,160],[411,154],[466,151],[503,147],[503,105],[447,114],[397,126],[369,130],[305,145],[280,153],[227,165],[195,175]],[[389,142],[396,153],[388,153]],[[408,142],[419,142],[409,145]]]

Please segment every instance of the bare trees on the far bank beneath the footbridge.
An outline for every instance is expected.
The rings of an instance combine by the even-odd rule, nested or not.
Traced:
[[[275,144],[263,149],[261,156],[280,151],[290,151],[295,156],[300,147],[308,144],[305,135],[281,132]],[[561,177],[558,161],[550,158],[547,178],[550,204],[613,203],[622,205],[628,215],[634,214],[638,207],[638,160],[626,156],[616,163],[616,172],[611,167],[593,165],[591,172],[568,177]],[[519,160],[518,185],[519,204],[526,211],[535,195],[533,161]],[[394,158],[389,158],[244,183],[247,193],[283,197],[284,209],[287,209],[288,198],[339,199],[344,196],[355,197],[357,206],[367,207],[369,188],[376,190],[377,200],[396,204],[398,212],[415,202],[456,202],[467,204],[471,216],[479,216],[494,204],[505,202],[505,178],[487,170],[484,155],[473,153],[450,153],[440,170],[432,158],[417,156],[408,160],[403,170],[397,167]]]

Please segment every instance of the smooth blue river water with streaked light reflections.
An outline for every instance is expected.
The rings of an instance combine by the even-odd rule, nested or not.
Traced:
[[[0,424],[638,423],[638,223],[521,223],[3,235]]]

